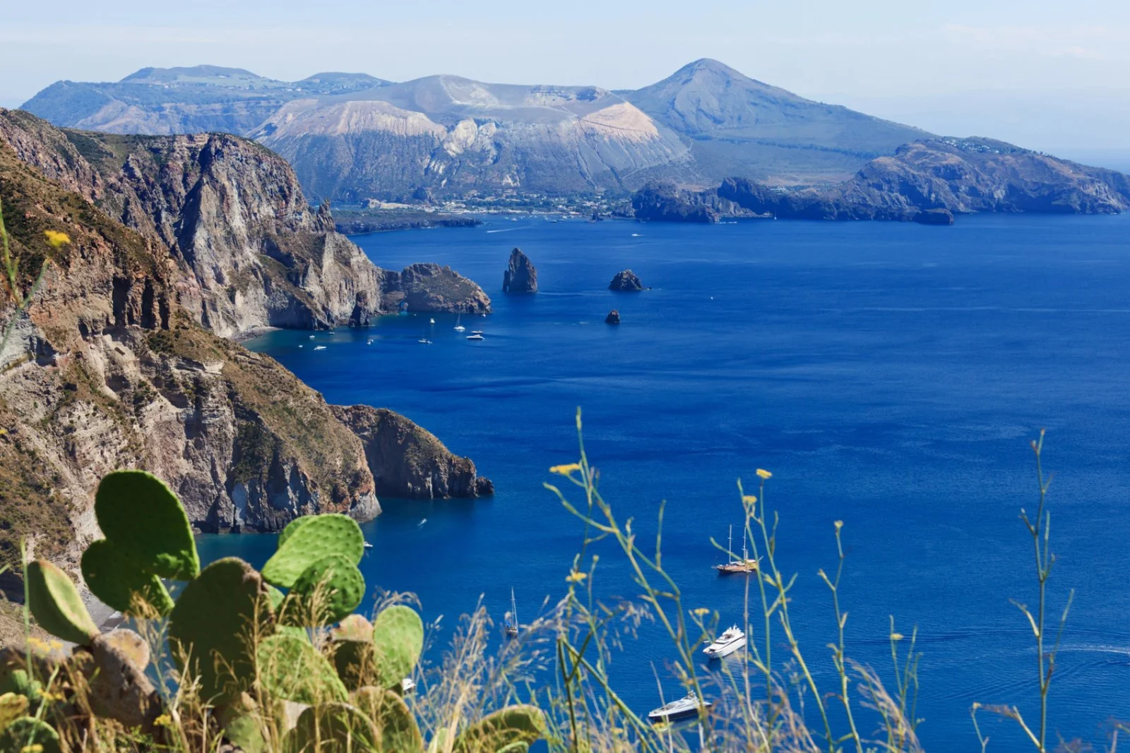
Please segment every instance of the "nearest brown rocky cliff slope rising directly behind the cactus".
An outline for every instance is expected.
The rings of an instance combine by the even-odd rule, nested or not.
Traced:
[[[273,359],[205,329],[199,312],[183,305],[202,297],[184,254],[159,231],[125,227],[105,203],[92,203],[108,189],[89,161],[68,164],[68,152],[36,143],[26,129],[18,140],[9,134],[0,134],[0,204],[20,288],[53,260],[0,352],[0,559],[14,563],[26,536],[36,554],[73,563],[98,535],[94,489],[120,467],[167,481],[202,531],[277,531],[321,511],[377,515],[366,454],[374,441],[386,446],[380,467],[389,493],[414,493],[409,484],[424,467],[449,469],[450,494],[488,490],[473,470],[472,482],[460,485],[466,464],[442,445],[399,441],[399,417],[384,422],[393,439],[374,429],[363,441]],[[58,180],[45,175],[52,170]],[[285,202],[286,192],[275,200]],[[319,233],[325,220],[295,221]],[[54,252],[45,230],[66,231],[71,244]],[[280,234],[278,242],[289,239]],[[0,326],[14,315],[6,298]]]

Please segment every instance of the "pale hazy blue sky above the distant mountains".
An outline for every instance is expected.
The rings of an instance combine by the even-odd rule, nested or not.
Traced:
[[[716,58],[803,96],[1049,151],[1130,152],[1130,2],[3,0],[0,105],[58,79],[214,63],[295,80],[634,88]]]

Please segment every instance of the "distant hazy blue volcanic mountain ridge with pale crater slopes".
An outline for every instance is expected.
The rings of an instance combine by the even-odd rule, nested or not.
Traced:
[[[128,82],[138,76],[173,85]],[[636,90],[454,75],[282,82],[215,67],[131,77],[55,84],[24,107],[90,130],[249,135],[286,157],[308,194],[336,201],[417,190],[599,193],[651,180],[705,186],[736,172],[783,185],[834,183],[929,135],[806,99],[711,59]]]

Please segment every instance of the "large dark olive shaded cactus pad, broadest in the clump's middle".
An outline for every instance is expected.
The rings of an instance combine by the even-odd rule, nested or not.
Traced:
[[[254,568],[229,557],[209,564],[176,599],[168,616],[173,658],[183,672],[190,651],[190,673],[200,678],[206,701],[224,702],[254,680],[251,633],[273,632],[267,589]]]

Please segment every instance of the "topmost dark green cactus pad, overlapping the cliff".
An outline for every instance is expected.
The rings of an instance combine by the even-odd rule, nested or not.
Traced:
[[[115,471],[98,484],[94,511],[106,539],[148,572],[191,580],[200,573],[189,516],[176,494],[145,471]]]

